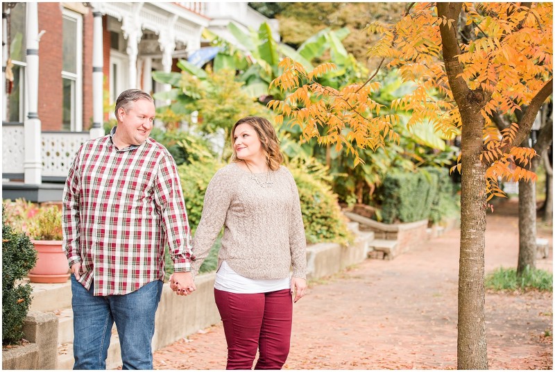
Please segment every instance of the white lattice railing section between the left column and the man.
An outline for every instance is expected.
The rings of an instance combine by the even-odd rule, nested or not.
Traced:
[[[43,132],[42,176],[66,177],[79,146],[89,138],[88,132]]]

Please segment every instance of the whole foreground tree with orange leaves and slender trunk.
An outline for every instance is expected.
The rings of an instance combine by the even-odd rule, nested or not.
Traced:
[[[461,130],[461,246],[459,259],[459,369],[487,369],[484,321],[484,248],[488,198],[502,195],[499,178],[531,180],[529,163],[536,153],[518,148],[529,135],[540,106],[552,94],[552,3],[410,3],[395,24],[374,22],[368,31],[382,34],[370,47],[381,58],[378,70],[398,69],[416,88],[392,104],[410,110],[408,126],[429,122],[452,135]],[[318,83],[334,69],[327,63],[306,71],[284,59],[273,86],[286,92],[271,101],[278,121],[302,128],[302,137],[317,137],[355,154],[377,149],[393,132],[395,115],[380,115],[373,101],[379,83],[373,78],[335,90]],[[513,113],[520,120],[502,132],[494,113]],[[320,135],[318,127],[325,128]]]

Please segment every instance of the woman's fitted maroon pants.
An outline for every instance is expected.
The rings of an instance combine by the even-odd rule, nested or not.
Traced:
[[[234,294],[214,289],[228,341],[226,369],[282,369],[289,355],[293,303],[291,291]]]

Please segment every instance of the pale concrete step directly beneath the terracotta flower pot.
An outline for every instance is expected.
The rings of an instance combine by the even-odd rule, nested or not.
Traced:
[[[29,310],[56,312],[71,307],[71,281],[29,284],[33,287],[33,301]]]

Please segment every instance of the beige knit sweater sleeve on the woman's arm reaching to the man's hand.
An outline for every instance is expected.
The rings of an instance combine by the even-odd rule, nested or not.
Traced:
[[[191,271],[194,276],[198,274],[198,269],[210,252],[210,248],[225,222],[231,203],[231,184],[228,176],[225,176],[224,172],[220,170],[214,174],[206,188],[203,213],[193,238],[195,260]]]

